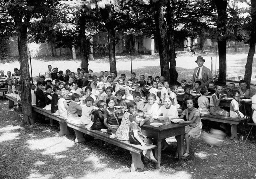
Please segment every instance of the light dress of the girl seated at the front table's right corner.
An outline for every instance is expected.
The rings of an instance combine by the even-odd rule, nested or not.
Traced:
[[[192,120],[195,116],[197,117],[195,122],[185,126],[185,133],[193,138],[198,138],[201,135],[203,126],[199,110],[197,108],[194,108],[189,114],[189,109],[185,109],[182,112],[182,115],[186,116],[187,121]]]

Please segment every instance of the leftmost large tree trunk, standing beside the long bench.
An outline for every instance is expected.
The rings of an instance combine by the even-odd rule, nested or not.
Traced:
[[[28,65],[27,51],[27,26],[22,25],[18,33],[18,51],[20,62],[20,86],[21,86],[21,103],[24,124],[35,124],[32,118],[31,90],[30,90],[30,72]]]

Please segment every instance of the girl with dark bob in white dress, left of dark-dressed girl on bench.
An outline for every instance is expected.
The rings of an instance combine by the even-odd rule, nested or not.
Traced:
[[[93,125],[93,113],[98,110],[98,107],[93,106],[94,100],[91,96],[85,98],[85,106],[82,108],[82,116],[80,124],[86,125],[89,129]]]

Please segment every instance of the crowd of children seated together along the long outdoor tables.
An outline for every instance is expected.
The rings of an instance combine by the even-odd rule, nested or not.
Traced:
[[[194,88],[186,84],[186,80],[181,81],[181,86],[171,85],[164,77],[148,76],[145,81],[145,76],[141,75],[139,80],[136,74],[131,73],[130,79],[126,79],[125,74],[121,74],[117,78],[115,72],[111,72],[108,76],[108,71],[100,72],[100,76],[93,75],[93,71],[85,72],[85,69],[78,68],[77,73],[66,70],[66,75],[63,76],[62,71],[48,65],[48,71],[45,76],[36,77],[35,83],[31,84],[32,105],[50,109],[52,113],[63,116],[67,121],[75,124],[83,124],[85,127],[93,130],[107,129],[108,133],[115,133],[115,138],[119,140],[130,140],[133,144],[152,143],[141,133],[140,125],[148,121],[155,115],[163,114],[164,117],[171,117],[174,113],[178,114],[177,109],[183,109],[180,118],[186,118],[187,121],[180,122],[188,123],[186,126],[185,141],[187,150],[183,158],[189,156],[189,136],[199,137],[202,129],[200,121],[200,113],[213,114],[215,116],[237,117],[239,119],[246,118],[240,111],[241,105],[240,95],[250,98],[251,91],[246,89],[244,80],[239,82],[241,89],[236,90],[234,83],[230,83],[228,87],[223,88],[223,85],[210,82],[207,88],[201,88],[200,81],[195,81]],[[45,79],[47,79],[45,81]],[[17,90],[17,81],[10,81],[10,92],[19,94]],[[136,85],[136,87],[134,87]],[[45,88],[45,91],[43,91]],[[9,86],[8,86],[9,89]],[[52,94],[52,89],[53,93]],[[160,92],[161,90],[161,92]],[[182,106],[178,103],[176,94],[183,90]],[[194,90],[198,96],[192,96],[191,90]],[[17,92],[18,91],[18,92]],[[66,98],[71,94],[70,104],[67,105]],[[226,95],[224,95],[226,94]],[[206,96],[210,97],[210,103]],[[224,96],[232,96],[234,99],[230,104],[230,112],[219,107],[220,101]],[[85,105],[82,107],[78,104],[83,98]],[[126,103],[124,100],[131,100]],[[147,101],[145,104],[144,102]],[[158,106],[158,103],[163,103],[164,107]],[[167,107],[170,103],[172,108]],[[127,108],[122,120],[118,118],[119,112],[115,106]],[[196,108],[198,107],[198,109]],[[171,113],[169,113],[171,110]],[[78,115],[78,111],[82,111]],[[146,120],[142,118],[146,117]],[[178,117],[178,116],[176,116]],[[51,121],[52,125],[52,121]],[[145,156],[157,162],[152,151],[145,153]]]

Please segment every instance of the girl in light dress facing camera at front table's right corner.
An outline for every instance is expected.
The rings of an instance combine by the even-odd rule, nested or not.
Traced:
[[[189,137],[198,138],[202,130],[202,122],[200,118],[200,112],[194,107],[195,100],[193,97],[188,97],[186,100],[187,109],[182,112],[180,119],[186,117],[187,121],[180,121],[178,124],[189,124],[185,126],[185,142],[186,142],[186,153],[182,156],[182,159],[189,157]]]

